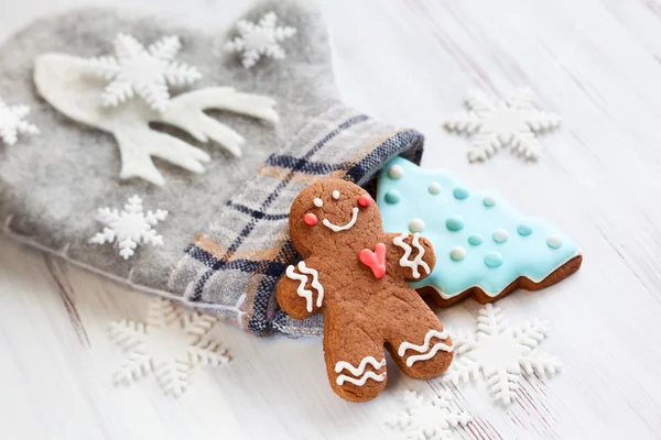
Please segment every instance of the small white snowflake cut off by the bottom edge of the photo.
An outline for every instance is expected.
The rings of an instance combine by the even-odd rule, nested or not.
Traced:
[[[407,440],[452,439],[451,428],[466,426],[473,420],[467,413],[457,411],[451,406],[453,399],[447,392],[426,400],[418,393],[407,391],[403,398],[405,410],[386,422],[392,428],[405,430]]]

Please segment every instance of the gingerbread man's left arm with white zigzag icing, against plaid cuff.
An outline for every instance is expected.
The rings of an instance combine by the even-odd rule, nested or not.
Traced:
[[[294,319],[310,318],[319,311],[324,302],[324,286],[308,260],[288,266],[275,286],[275,299],[282,310]]]

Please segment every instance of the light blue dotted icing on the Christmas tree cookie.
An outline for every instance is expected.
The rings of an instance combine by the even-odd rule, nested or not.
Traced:
[[[445,300],[473,287],[494,298],[519,277],[538,284],[581,255],[555,224],[520,215],[497,191],[473,190],[452,172],[423,169],[401,157],[381,172],[377,204],[384,230],[409,232],[415,226],[432,241],[436,266],[412,285],[433,287]]]

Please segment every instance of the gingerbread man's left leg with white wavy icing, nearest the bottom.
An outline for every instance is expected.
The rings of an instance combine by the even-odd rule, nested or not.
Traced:
[[[347,315],[337,319],[332,314],[324,316],[328,381],[333,391],[346,400],[371,400],[386,387],[383,340],[369,322]]]

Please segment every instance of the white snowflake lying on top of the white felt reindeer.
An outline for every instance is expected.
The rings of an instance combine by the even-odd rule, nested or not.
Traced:
[[[112,42],[115,56],[90,59],[96,73],[111,81],[104,94],[105,107],[117,107],[138,94],[155,111],[167,109],[167,85],[186,86],[202,75],[197,68],[173,62],[182,47],[178,36],[165,36],[148,48],[133,36],[119,34]]]

